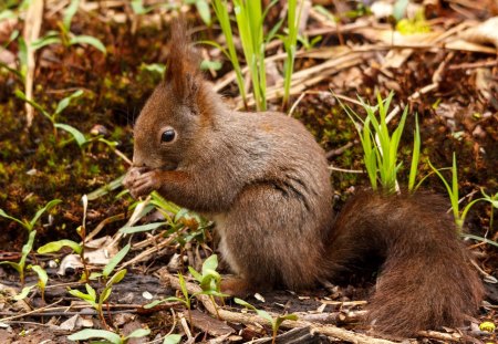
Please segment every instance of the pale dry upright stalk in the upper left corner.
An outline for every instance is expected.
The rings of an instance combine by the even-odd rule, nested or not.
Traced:
[[[34,50],[31,48],[31,43],[40,37],[40,29],[43,20],[43,0],[33,0],[28,8],[24,20],[23,38],[27,49],[27,71],[24,79],[24,94],[27,100],[33,98],[33,79],[34,79]],[[33,123],[34,108],[25,102],[25,119],[27,127],[31,127]]]

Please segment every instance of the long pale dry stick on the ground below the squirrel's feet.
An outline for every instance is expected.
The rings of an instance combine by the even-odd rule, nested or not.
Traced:
[[[166,269],[162,269],[158,271],[159,278],[166,282],[167,284],[170,284],[174,289],[180,290],[179,280],[178,278],[169,274]],[[186,286],[189,294],[201,292],[201,289],[190,282],[186,282]],[[212,305],[210,299],[208,295],[197,295],[196,296],[205,306],[205,309],[214,316],[216,316],[216,309]],[[251,323],[260,323],[260,324],[267,324],[268,321],[262,319],[261,316],[253,315],[253,314],[241,314],[237,312],[230,312],[226,310],[218,310],[219,316],[228,322],[235,322],[235,323],[243,323],[243,324],[251,324]],[[357,343],[357,344],[393,344],[395,342],[381,340],[381,338],[374,338],[364,334],[354,333],[352,331],[347,331],[344,329],[335,327],[332,325],[323,325],[323,324],[315,324],[307,321],[284,321],[281,325],[283,329],[297,329],[297,327],[307,327],[310,326],[310,330],[312,332],[319,332],[329,336],[333,336],[335,338],[347,341],[351,343]]]

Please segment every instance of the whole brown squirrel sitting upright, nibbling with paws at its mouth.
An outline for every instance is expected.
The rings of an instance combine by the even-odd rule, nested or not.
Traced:
[[[170,44],[164,81],[135,124],[124,184],[134,197],[157,190],[216,221],[238,275],[225,292],[312,288],[380,257],[369,304],[377,331],[459,326],[479,307],[481,281],[439,197],[364,191],[334,218],[328,161],[305,127],[281,113],[229,110],[183,24]]]

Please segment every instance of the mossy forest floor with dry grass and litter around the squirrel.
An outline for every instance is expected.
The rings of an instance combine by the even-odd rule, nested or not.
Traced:
[[[20,225],[0,217],[0,261],[22,261],[22,249],[35,230],[32,248],[28,250],[32,252],[24,254],[25,264],[41,267],[49,281],[43,299],[40,288],[32,288],[27,298],[13,301],[12,296],[22,290],[20,275],[12,264],[0,264],[0,342],[70,343],[68,335],[81,329],[104,329],[95,309],[68,289],[85,291],[80,281],[82,271],[102,271],[110,258],[131,243],[129,252],[116,268],[116,271],[126,268],[126,275],[113,285],[104,303],[106,323],[115,332],[151,330],[147,336],[127,343],[153,340],[158,343],[168,333],[181,334],[183,341],[189,343],[246,343],[257,338],[261,338],[257,343],[270,343],[268,322],[242,312],[230,300],[218,311],[225,321],[216,319],[217,311],[207,296],[194,299],[191,319],[181,301],[152,310],[143,307],[175,293],[180,298],[177,272],[187,275],[186,267],[200,271],[203,261],[216,252],[215,234],[211,223],[198,216],[167,202],[163,204],[166,210],[163,207],[157,215],[151,204],[137,202],[121,186],[132,158],[134,119],[162,79],[160,63],[169,49],[172,18],[178,11],[184,12],[195,40],[224,44],[216,20],[212,19],[211,27],[205,24],[198,13],[201,4],[175,8],[174,1],[168,6],[143,1],[145,10],[141,12],[128,1],[81,1],[72,21],[64,27],[68,6],[74,1],[45,1],[44,8],[37,9],[38,2],[31,1],[29,9],[21,9],[15,1],[7,1],[7,8],[0,4],[0,65],[4,66],[0,69],[0,209],[21,222],[27,220]],[[392,108],[407,107],[409,114],[402,138],[403,166],[409,166],[417,114],[422,135],[419,180],[432,173],[428,161],[437,168],[450,167],[455,153],[460,209],[484,197],[483,191],[496,195],[496,0],[412,3],[415,11],[425,13],[425,19],[407,21],[404,30],[413,29],[416,32],[413,34],[400,33],[400,27],[395,30],[378,6],[366,11],[356,8],[357,2],[333,2],[334,6],[329,1],[304,1],[300,28],[303,40],[298,46],[289,112],[308,126],[328,154],[336,196],[334,208],[340,210],[349,195],[367,185],[366,174],[361,173],[364,165],[360,138],[338,98],[363,114],[357,96],[373,104],[377,93],[385,97],[391,91],[395,93]],[[277,2],[268,12],[267,32],[286,12],[284,3]],[[384,9],[390,8],[383,4]],[[6,9],[10,10],[8,14]],[[32,33],[38,25],[40,33]],[[27,37],[27,31],[34,38],[54,31],[49,38],[62,38],[62,43],[45,40],[46,44],[31,59],[29,52],[22,53],[20,38]],[[98,44],[87,44],[87,40],[68,43],[68,38],[82,34],[100,40],[105,53]],[[207,44],[197,48],[207,61],[205,73],[214,87],[232,107],[242,110],[230,62],[217,48]],[[281,111],[286,55],[282,42],[278,39],[269,42],[266,55],[268,106]],[[28,59],[24,61],[23,56]],[[32,98],[46,115],[37,108],[27,110],[22,98],[15,96],[20,90],[25,94],[32,92]],[[69,106],[58,113],[59,102],[77,90],[83,93],[74,95]],[[253,105],[250,106],[252,110]],[[33,114],[32,122],[29,113]],[[401,113],[391,125],[398,123]],[[54,115],[49,119],[51,114]],[[62,126],[56,129],[53,123]],[[84,137],[71,134],[71,127],[61,129],[64,125],[76,128]],[[402,181],[406,181],[408,169],[402,168]],[[444,174],[450,180],[448,170]],[[447,195],[435,174],[422,187]],[[82,201],[83,195],[87,195],[87,207]],[[37,211],[55,199],[61,202],[52,202],[27,228]],[[146,211],[149,212],[144,216]],[[172,215],[169,225],[133,236],[118,231],[157,221],[164,213]],[[490,202],[476,202],[466,218],[466,232],[496,242],[494,216]],[[82,228],[84,251],[89,254],[85,267],[68,247],[53,253],[37,252],[45,243],[61,239],[80,242],[82,234],[77,230]],[[498,250],[475,237],[466,238],[465,243],[486,281],[486,305],[467,326],[424,332],[411,340],[413,343],[498,343],[496,332],[479,329],[485,322],[498,325]],[[20,269],[19,264],[17,268]],[[219,268],[222,274],[228,273],[222,261]],[[37,285],[43,275],[34,270],[27,270],[25,285]],[[191,278],[187,282],[190,295],[199,291]],[[97,278],[90,284],[101,293],[105,279]],[[360,321],[374,286],[374,281],[361,281],[307,292],[276,291],[247,301],[274,314],[299,315],[299,322],[282,324],[278,343],[397,342],[401,338],[378,336]],[[169,338],[173,343],[174,337]]]

